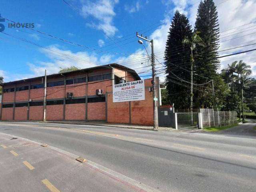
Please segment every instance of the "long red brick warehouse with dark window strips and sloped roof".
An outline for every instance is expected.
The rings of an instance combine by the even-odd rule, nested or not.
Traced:
[[[151,78],[145,80],[145,100],[113,102],[112,86],[134,80],[140,80],[138,74],[119,64],[48,75],[46,120],[152,125]],[[1,86],[0,120],[43,120],[44,76]]]

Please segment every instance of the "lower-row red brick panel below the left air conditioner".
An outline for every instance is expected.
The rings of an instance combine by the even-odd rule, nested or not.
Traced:
[[[85,120],[85,104],[66,104],[65,120]]]

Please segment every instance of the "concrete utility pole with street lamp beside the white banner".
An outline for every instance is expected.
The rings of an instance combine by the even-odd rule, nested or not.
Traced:
[[[138,35],[138,32],[136,32],[136,36],[138,38],[141,38],[147,42],[150,43],[150,46],[151,46],[151,64],[152,64],[152,88],[153,88],[153,93],[154,93],[154,98],[153,98],[153,103],[154,103],[154,106],[153,106],[153,116],[154,116],[154,130],[158,129],[158,109],[157,109],[157,101],[158,101],[158,98],[157,98],[157,94],[156,94],[156,70],[155,70],[155,57],[154,57],[154,41],[153,39],[152,40],[148,40],[147,36],[144,38],[143,35],[139,36]],[[138,40],[139,44],[143,44],[143,41],[142,40]],[[147,54],[148,54],[148,51],[146,49],[146,47],[144,46]],[[148,57],[150,58],[150,56],[148,55]]]

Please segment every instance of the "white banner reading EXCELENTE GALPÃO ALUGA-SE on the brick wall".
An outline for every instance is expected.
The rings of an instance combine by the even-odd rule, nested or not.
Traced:
[[[113,86],[113,102],[145,100],[144,80],[131,81]]]

